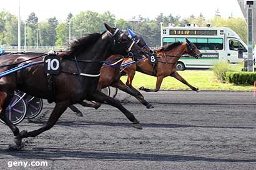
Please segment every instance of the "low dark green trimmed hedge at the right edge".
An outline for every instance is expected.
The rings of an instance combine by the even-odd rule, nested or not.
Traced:
[[[226,72],[226,81],[237,85],[253,85],[256,72]]]

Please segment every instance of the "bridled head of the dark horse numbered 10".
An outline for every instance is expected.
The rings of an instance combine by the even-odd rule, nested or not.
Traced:
[[[129,36],[119,29],[113,28],[106,23],[104,25],[107,29],[107,34],[111,37],[111,49],[114,54],[122,54],[125,57],[134,57],[134,60],[142,58],[142,55],[145,53],[134,40],[130,39]]]

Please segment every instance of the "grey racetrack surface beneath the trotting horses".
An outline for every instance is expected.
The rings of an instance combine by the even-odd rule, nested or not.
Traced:
[[[132,128],[112,106],[80,107],[84,117],[67,110],[54,128],[24,139],[22,151],[11,152],[6,150],[13,144],[11,131],[0,125],[0,169],[256,169],[256,98],[251,92],[161,91],[144,96],[154,109],[124,93],[117,96],[143,130]],[[52,110],[47,103],[44,107]],[[18,127],[34,130],[42,123],[25,120]],[[7,165],[45,160],[48,166]]]

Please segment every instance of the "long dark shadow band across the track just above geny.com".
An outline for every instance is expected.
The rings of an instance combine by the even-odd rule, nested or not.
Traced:
[[[48,159],[58,161],[68,161],[72,159],[116,159],[134,161],[205,161],[220,163],[249,163],[256,162],[256,159],[221,159],[205,158],[202,156],[184,156],[169,154],[140,154],[140,153],[109,153],[109,152],[88,152],[73,149],[59,148],[32,148],[31,151],[7,152],[0,149],[0,155],[10,155],[21,159]]]

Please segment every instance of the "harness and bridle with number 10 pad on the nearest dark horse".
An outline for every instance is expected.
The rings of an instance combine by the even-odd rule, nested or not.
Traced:
[[[125,48],[127,53],[129,54],[129,56],[134,55],[130,51],[132,50],[132,47],[134,46],[135,42],[133,40],[130,41],[130,44],[127,44],[127,42],[126,42],[126,46],[124,47],[124,42],[121,42],[119,40],[119,36],[116,36],[116,35],[122,34],[122,32],[119,31],[119,29],[116,29],[113,34],[109,31],[107,31],[107,34],[110,35],[109,37],[112,40],[112,42],[111,42],[112,52],[116,53],[116,52],[118,52],[118,50],[121,50],[121,48],[122,49]],[[119,46],[116,46],[116,44],[119,44]],[[29,60],[38,59],[39,57],[44,57],[44,60],[39,61],[39,62],[30,62],[29,64],[24,64],[24,65],[19,65],[19,64],[22,64],[22,63],[27,62]],[[54,88],[53,88],[54,87],[54,75],[58,74],[59,72],[71,73],[72,75],[78,75],[78,76],[82,76],[82,77],[99,77],[101,75],[100,72],[96,73],[96,74],[82,73],[81,68],[79,67],[79,62],[107,64],[107,65],[114,66],[117,63],[124,60],[124,57],[121,57],[119,59],[112,60],[112,61],[115,61],[114,64],[109,64],[112,61],[109,61],[109,60],[77,60],[77,57],[75,55],[74,55],[74,59],[67,59],[67,58],[63,57],[62,59],[74,60],[74,62],[76,64],[77,72],[66,72],[64,70],[61,70],[61,64],[60,64],[60,59],[59,58],[60,58],[60,56],[58,56],[56,54],[56,52],[54,52],[53,54],[43,54],[43,55],[39,55],[39,56],[36,56],[36,57],[32,57],[30,59],[23,60],[22,62],[18,62],[18,63],[15,63],[15,64],[0,65],[0,67],[12,67],[12,66],[19,65],[17,67],[11,68],[10,70],[7,70],[5,72],[0,73],[0,78],[4,77],[6,75],[9,75],[10,73],[22,70],[24,68],[31,67],[32,65],[37,65],[37,64],[44,63],[44,70],[46,72],[46,77],[47,77],[47,82],[46,82],[47,83],[47,90],[49,91],[49,94],[50,94],[50,98],[48,99],[48,102],[52,103],[54,101],[54,96],[55,96],[55,91],[54,91]]]

